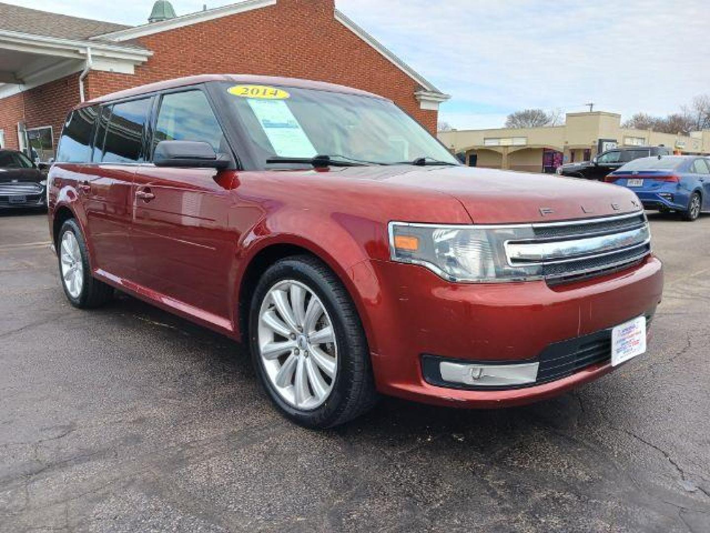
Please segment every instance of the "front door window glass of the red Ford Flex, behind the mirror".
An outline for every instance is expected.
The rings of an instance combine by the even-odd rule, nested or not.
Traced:
[[[153,134],[153,149],[160,141],[202,141],[224,152],[224,134],[204,92],[163,95]]]

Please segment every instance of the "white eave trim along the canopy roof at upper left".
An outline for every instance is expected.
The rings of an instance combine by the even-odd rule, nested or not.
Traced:
[[[125,60],[136,65],[145,63],[153,55],[151,50],[129,48],[100,41],[75,41],[0,30],[0,50],[16,50],[40,55],[55,55],[61,58],[83,59],[86,57],[86,50],[89,46],[95,54],[104,58]]]

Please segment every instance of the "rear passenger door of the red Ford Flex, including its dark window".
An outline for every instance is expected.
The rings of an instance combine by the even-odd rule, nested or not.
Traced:
[[[151,97],[102,106],[92,164],[78,183],[94,259],[94,269],[131,279],[135,262],[129,239],[133,175],[144,159],[145,125]]]

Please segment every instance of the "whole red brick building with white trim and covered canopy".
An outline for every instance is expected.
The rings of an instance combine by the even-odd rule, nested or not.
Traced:
[[[53,157],[84,99],[174,77],[300,77],[383,95],[436,133],[449,97],[335,9],[334,0],[243,0],[121,26],[0,4],[0,145]],[[146,16],[150,4],[146,5]],[[158,9],[160,8],[160,9]],[[157,20],[155,14],[158,14]]]

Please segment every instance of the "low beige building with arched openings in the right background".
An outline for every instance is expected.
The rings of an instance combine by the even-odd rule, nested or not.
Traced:
[[[625,129],[621,115],[568,113],[564,126],[439,131],[439,139],[466,164],[529,172],[554,172],[560,164],[589,161],[617,146],[668,146],[677,154],[710,154],[710,131],[689,136]]]

